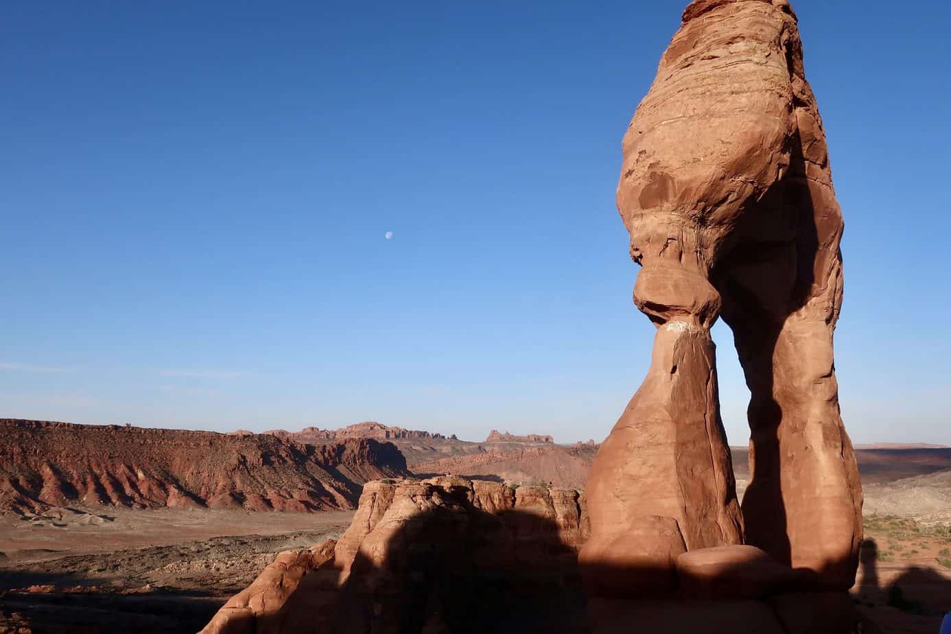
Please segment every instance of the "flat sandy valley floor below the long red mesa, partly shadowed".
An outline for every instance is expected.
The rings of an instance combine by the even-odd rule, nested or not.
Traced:
[[[0,516],[0,634],[17,631],[16,615],[36,633],[194,632],[276,553],[339,537],[352,517],[99,508]]]

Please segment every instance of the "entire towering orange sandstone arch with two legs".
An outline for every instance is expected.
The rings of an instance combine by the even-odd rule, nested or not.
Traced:
[[[690,3],[623,151],[617,205],[643,267],[633,298],[657,333],[647,378],[588,480],[580,561],[592,596],[726,588],[718,599],[741,602],[788,590],[790,577],[847,589],[862,488],[832,354],[843,221],[789,3]],[[709,334],[721,314],[751,392],[742,512]],[[615,607],[598,613],[650,620]],[[705,609],[689,631],[733,631],[705,624]],[[802,631],[754,613],[763,631]]]

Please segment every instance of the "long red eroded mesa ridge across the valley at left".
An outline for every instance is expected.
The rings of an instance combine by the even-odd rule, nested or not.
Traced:
[[[408,474],[388,443],[314,447],[268,435],[0,420],[0,509],[352,509],[361,485]]]

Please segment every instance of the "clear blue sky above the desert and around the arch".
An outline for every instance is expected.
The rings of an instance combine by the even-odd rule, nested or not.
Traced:
[[[602,439],[653,334],[621,137],[684,4],[8,4],[0,416]],[[846,427],[951,444],[951,3],[794,6]]]

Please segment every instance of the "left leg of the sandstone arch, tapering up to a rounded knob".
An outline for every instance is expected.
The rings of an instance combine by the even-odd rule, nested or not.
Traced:
[[[743,538],[709,334],[719,295],[677,256],[641,271],[634,301],[657,333],[650,371],[588,480],[581,562],[600,594],[670,591],[677,555]]]

